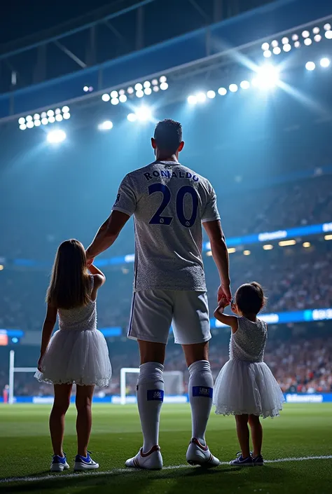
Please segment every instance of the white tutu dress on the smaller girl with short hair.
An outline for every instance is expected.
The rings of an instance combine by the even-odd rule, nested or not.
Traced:
[[[239,317],[238,329],[230,336],[230,359],[214,384],[216,413],[279,416],[284,395],[263,362],[267,336],[265,322]]]

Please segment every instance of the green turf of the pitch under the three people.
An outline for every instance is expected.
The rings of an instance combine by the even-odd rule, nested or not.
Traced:
[[[0,478],[49,474],[50,406],[0,406]],[[90,449],[100,464],[99,472],[122,469],[125,460],[137,453],[141,433],[136,406],[95,405]],[[160,445],[165,467],[184,465],[191,436],[188,405],[164,405],[160,423]],[[266,459],[332,454],[332,405],[291,404],[282,416],[263,421]],[[238,451],[233,417],[211,416],[207,440],[221,461]],[[69,464],[75,451],[75,409],[67,415],[64,448]],[[72,472],[71,470],[67,472]],[[52,474],[55,479],[0,483],[0,492],[57,494],[331,494],[332,460],[270,463],[264,467],[236,469],[222,465],[205,471],[199,467],[164,469],[161,472],[113,471]]]

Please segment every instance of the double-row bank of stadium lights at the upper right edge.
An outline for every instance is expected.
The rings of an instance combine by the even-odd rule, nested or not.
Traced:
[[[332,39],[332,30],[331,30],[331,24],[325,24],[324,27],[324,36],[326,39]],[[321,32],[321,29],[319,29],[319,27],[314,27],[312,29],[312,34],[314,35],[313,36],[313,40],[316,42],[316,43],[319,43],[319,41],[321,41],[322,39],[322,34],[320,34]],[[310,46],[312,44],[312,39],[310,38],[310,32],[307,31],[307,29],[305,29],[305,31],[302,32],[302,34],[300,36],[302,36],[303,38],[303,43],[305,44],[305,46]],[[291,42],[293,41],[293,46],[294,48],[300,48],[301,46],[301,42],[300,42],[300,37],[298,34],[292,34],[291,35],[291,39],[289,39],[287,36],[284,36],[282,38],[282,43],[281,43],[281,46],[279,46],[279,42],[277,41],[277,39],[274,39],[273,41],[271,41],[271,43],[263,43],[262,45],[262,50],[263,50],[263,55],[265,58],[270,58],[271,55],[279,55],[280,53],[282,53],[282,50],[284,52],[289,52],[291,51]]]

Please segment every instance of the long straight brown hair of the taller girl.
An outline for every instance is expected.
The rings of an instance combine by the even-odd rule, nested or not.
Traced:
[[[85,249],[78,240],[65,240],[57,249],[46,301],[61,309],[86,306],[89,292]]]

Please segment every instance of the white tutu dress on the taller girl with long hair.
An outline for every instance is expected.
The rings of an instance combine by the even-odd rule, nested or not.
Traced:
[[[50,339],[41,361],[43,372],[36,371],[34,377],[43,383],[109,385],[109,349],[97,330],[96,301],[74,309],[58,309],[58,315],[60,329]]]

